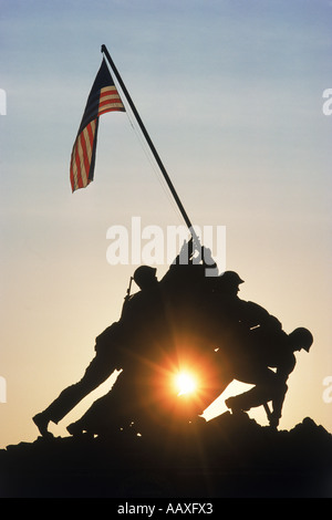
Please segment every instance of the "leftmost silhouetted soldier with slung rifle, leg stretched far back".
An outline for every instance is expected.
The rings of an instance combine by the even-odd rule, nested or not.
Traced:
[[[156,301],[158,284],[156,269],[142,266],[136,269],[134,280],[141,291],[126,297],[120,321],[113,323],[96,337],[95,357],[87,366],[82,379],[62,391],[44,412],[33,417],[42,436],[52,436],[48,431],[50,422],[58,424],[85,396],[104,383],[114,371],[124,368],[128,361],[133,335],[138,335],[138,329],[142,327],[144,320],[149,319],[149,325],[153,326],[152,315],[148,316],[147,308],[154,309],[155,313],[159,311]]]

